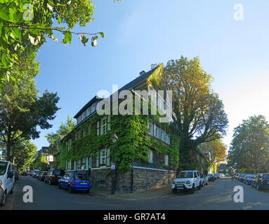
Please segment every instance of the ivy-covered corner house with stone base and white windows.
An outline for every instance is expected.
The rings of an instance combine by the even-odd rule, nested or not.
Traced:
[[[162,83],[162,69],[161,64],[147,73],[140,73],[138,78],[116,94],[128,90],[133,93],[132,99],[135,102],[136,90],[164,90],[165,86],[159,85]],[[140,98],[142,108],[143,97]],[[111,113],[99,115],[96,109],[102,100],[93,97],[74,116],[77,126],[60,139],[58,152],[54,155],[55,164],[62,169],[85,172],[90,176],[93,186],[110,189],[114,158],[116,190],[169,186],[176,177],[179,155],[178,138],[169,130],[169,123],[159,123],[159,109],[167,109],[167,102],[164,99],[157,100],[156,113],[148,115],[136,114],[135,103],[132,115],[114,115],[112,100]],[[119,104],[124,100],[126,99],[120,99]],[[149,111],[151,105],[149,104]],[[112,134],[117,134],[118,137],[114,145]]]

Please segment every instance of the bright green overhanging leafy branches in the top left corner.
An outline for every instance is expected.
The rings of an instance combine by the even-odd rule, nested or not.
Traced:
[[[98,34],[74,32],[79,24],[85,27],[93,21],[93,1],[91,0],[2,0],[0,1],[0,90],[4,81],[15,80],[11,74],[13,63],[18,61],[18,54],[31,45],[38,48],[46,42],[46,37],[61,43],[71,43],[72,34],[80,35],[86,45],[91,36],[91,43],[96,45]],[[54,27],[53,21],[64,27]],[[54,32],[63,35],[63,41],[54,36]]]

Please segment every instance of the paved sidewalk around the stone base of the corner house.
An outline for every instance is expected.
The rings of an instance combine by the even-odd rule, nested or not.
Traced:
[[[157,190],[143,190],[143,191],[135,191],[133,193],[121,192],[116,190],[114,195],[111,195],[110,190],[106,190],[104,188],[91,187],[90,195],[98,195],[101,197],[110,197],[124,200],[144,200],[144,199],[152,199],[157,197],[163,197],[166,195],[171,195],[171,187],[160,188]]]

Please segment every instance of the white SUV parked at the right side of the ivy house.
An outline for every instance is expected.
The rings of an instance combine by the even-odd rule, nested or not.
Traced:
[[[172,183],[173,193],[178,190],[190,190],[191,193],[194,193],[195,188],[201,189],[200,176],[197,170],[181,171]]]

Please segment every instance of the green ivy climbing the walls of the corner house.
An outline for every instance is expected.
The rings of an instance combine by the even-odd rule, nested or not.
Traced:
[[[154,148],[157,154],[169,154],[171,167],[178,167],[178,138],[171,134],[171,146],[164,144],[153,137],[149,137],[147,130],[147,116],[111,116],[111,130],[107,134],[96,136],[96,122],[102,116],[88,118],[85,123],[79,125],[70,133],[72,138],[72,147],[67,151],[66,141],[61,144],[60,167],[65,168],[67,160],[79,160],[89,155],[98,155],[100,149],[110,148],[112,155],[112,141],[110,139],[113,133],[117,134],[117,141],[114,144],[114,158],[117,173],[124,173],[131,169],[132,160],[143,160],[147,162],[150,148]],[[88,130],[91,125],[91,132],[81,139],[74,139],[74,133],[80,130]],[[109,175],[109,174],[107,174]]]

